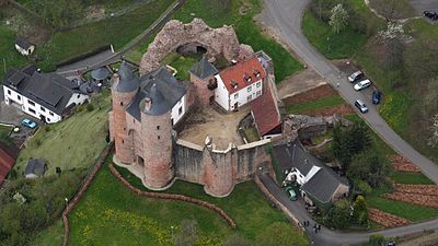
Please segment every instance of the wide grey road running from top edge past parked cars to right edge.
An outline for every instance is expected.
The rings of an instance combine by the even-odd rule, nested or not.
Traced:
[[[354,105],[354,102],[358,98],[364,102],[369,101],[369,98],[366,98],[361,93],[355,92],[345,74],[341,74],[339,70],[319,54],[302,35],[301,17],[309,2],[310,0],[264,0],[265,10],[262,13],[262,21],[265,22],[266,25],[278,30],[285,42],[293,51],[307,65],[325,78],[328,83],[335,85],[339,82],[339,94],[348,103]],[[370,127],[395,151],[415,163],[427,177],[438,184],[438,165],[423,156],[400,138],[380,117],[376,108],[369,108],[369,113],[361,116]]]

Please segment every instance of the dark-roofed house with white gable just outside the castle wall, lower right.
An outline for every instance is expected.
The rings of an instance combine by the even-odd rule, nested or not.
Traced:
[[[288,167],[285,181],[296,181],[308,202],[328,203],[349,192],[348,180],[310,154],[298,139],[274,147],[274,156],[281,167]]]

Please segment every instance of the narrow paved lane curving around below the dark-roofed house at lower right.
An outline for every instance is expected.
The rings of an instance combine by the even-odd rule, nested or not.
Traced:
[[[382,234],[388,237],[395,237],[405,234],[423,232],[424,230],[438,229],[438,219],[436,219],[418,224],[411,224],[402,227],[371,233],[345,233],[328,230],[327,227],[322,226],[321,231],[315,234],[312,230],[312,226],[315,222],[307,213],[303,201],[301,199],[298,201],[290,201],[286,192],[277,186],[270,176],[262,174],[260,178],[269,192],[273,194],[286,208],[288,208],[288,210],[296,216],[297,220],[300,221],[301,224],[303,221],[310,221],[310,226],[304,227],[304,230],[316,246],[337,246],[343,244],[356,245],[368,242],[369,236],[372,234]]]

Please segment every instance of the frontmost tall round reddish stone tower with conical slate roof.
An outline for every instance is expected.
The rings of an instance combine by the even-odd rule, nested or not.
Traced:
[[[152,84],[140,102],[141,141],[143,142],[145,184],[148,188],[166,188],[174,177],[172,161],[172,105]]]

